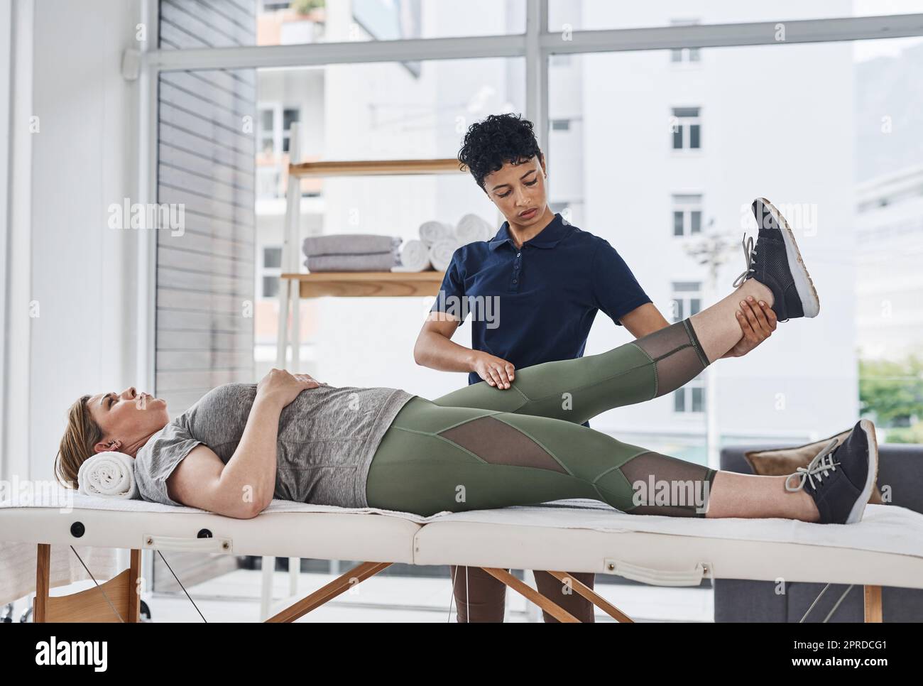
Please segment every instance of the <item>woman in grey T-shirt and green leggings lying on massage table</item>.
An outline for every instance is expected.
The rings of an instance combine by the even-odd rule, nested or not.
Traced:
[[[105,493],[113,467],[94,475],[88,459],[120,453],[133,458],[127,487],[136,489],[117,486],[123,495],[235,518],[258,515],[272,499],[426,516],[590,498],[632,514],[859,521],[877,475],[868,420],[787,476],[716,471],[581,426],[698,375],[696,324],[516,370],[509,389],[481,382],[437,401],[281,369],[212,389],[173,421],[162,398],[134,388],[83,396],[70,409],[55,473],[66,487]]]

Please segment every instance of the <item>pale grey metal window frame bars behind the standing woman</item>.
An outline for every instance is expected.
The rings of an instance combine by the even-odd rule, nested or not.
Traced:
[[[552,54],[581,55],[778,44],[774,38],[774,27],[778,20],[641,29],[572,30],[565,35],[559,27],[552,29],[548,26],[548,0],[523,2],[525,30],[508,35],[162,50],[159,47],[159,2],[145,0],[141,3],[139,25],[146,28],[146,36],[145,40],[138,42],[138,201],[156,203],[158,198],[158,84],[162,71],[372,62],[415,64],[439,59],[522,57],[526,60],[523,84],[525,111],[522,114],[533,122],[538,143],[545,149],[549,134],[547,110]],[[876,40],[882,36],[889,39],[923,36],[923,13],[785,20],[787,44]],[[556,62],[559,64],[566,61],[559,59]],[[691,64],[694,63],[689,63],[689,66]],[[690,150],[677,150],[677,153],[688,155]],[[154,388],[156,362],[156,234],[146,232],[146,235],[139,237],[137,255],[136,368],[138,383],[148,388]],[[150,559],[146,561],[149,570],[151,563]],[[145,575],[150,578],[150,572]]]

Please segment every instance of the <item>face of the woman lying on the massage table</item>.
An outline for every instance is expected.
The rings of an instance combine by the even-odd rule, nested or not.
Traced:
[[[121,393],[97,393],[87,401],[90,416],[102,428],[103,441],[96,451],[115,451],[134,454],[135,444],[147,440],[170,423],[167,402],[148,393],[138,393],[134,386]],[[110,446],[110,440],[119,445]]]

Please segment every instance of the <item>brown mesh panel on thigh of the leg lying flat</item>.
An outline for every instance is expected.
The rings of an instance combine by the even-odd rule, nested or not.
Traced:
[[[567,474],[567,470],[533,439],[492,416],[482,416],[440,431],[439,436],[472,451],[488,463],[539,467]]]

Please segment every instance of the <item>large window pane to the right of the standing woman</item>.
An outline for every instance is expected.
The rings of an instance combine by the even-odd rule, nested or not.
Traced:
[[[822,355],[804,355],[825,336],[809,331],[821,319],[782,323],[713,367],[708,398],[697,379],[593,426],[689,459],[704,457],[708,413],[722,444],[808,442],[863,412],[893,439],[923,440],[917,411],[887,402],[917,393],[913,351],[923,348],[923,282],[911,266],[923,246],[923,110],[910,85],[923,41],[704,47],[689,70],[669,55],[577,54],[556,67],[569,75],[551,81],[549,119],[566,112],[583,126],[566,149],[551,138],[549,179],[581,175],[566,196],[581,205],[575,223],[617,248],[672,322],[732,292],[746,269],[741,239],[756,237],[750,204],[770,199],[797,236],[821,319],[844,322],[849,340],[825,338]],[[578,87],[592,96],[570,97]],[[708,154],[689,154],[695,145]],[[588,353],[622,340],[597,322]]]

